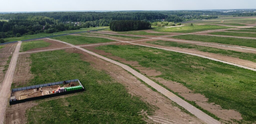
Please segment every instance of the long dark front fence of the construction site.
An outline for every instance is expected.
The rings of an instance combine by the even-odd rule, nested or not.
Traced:
[[[32,98],[27,98],[27,99],[22,99],[22,100],[16,100],[16,101],[9,101],[10,105],[17,104],[17,103],[22,103],[22,102],[27,102],[27,101],[32,101],[32,100],[37,100],[37,99],[44,99],[44,98],[49,98],[49,97],[54,97],[54,96],[60,96],[60,95],[65,95],[65,94],[72,94],[75,92],[82,92],[85,89],[78,89],[78,90],[72,90],[72,91],[67,91],[67,92],[60,92],[56,94],[50,94],[50,95],[44,95],[44,96],[38,96],[38,97],[32,97]]]

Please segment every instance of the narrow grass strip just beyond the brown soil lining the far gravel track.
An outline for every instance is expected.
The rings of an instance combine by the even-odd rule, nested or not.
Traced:
[[[219,54],[219,55],[223,55],[223,56],[236,57],[236,58],[240,58],[240,59],[244,59],[244,60],[253,61],[256,63],[256,54],[252,54],[252,53],[242,53],[242,52],[233,51],[233,50],[225,50],[225,49],[218,49],[218,48],[212,48],[212,47],[198,46],[198,45],[194,45],[194,44],[169,42],[169,41],[164,41],[164,40],[148,41],[146,43],[162,45],[162,46],[196,49],[196,50],[203,51],[203,52],[215,53],[215,54]]]

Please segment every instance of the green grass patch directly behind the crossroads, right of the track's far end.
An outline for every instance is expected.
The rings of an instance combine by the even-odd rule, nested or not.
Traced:
[[[115,40],[110,40],[110,39],[106,39],[106,38],[74,36],[74,35],[51,37],[51,39],[64,41],[64,42],[67,42],[67,43],[70,43],[70,44],[73,44],[73,45],[93,44],[93,43],[103,43],[103,42],[115,41]]]

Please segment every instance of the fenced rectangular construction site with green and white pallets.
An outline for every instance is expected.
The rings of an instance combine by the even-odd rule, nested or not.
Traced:
[[[78,79],[12,89],[10,105],[84,91]]]

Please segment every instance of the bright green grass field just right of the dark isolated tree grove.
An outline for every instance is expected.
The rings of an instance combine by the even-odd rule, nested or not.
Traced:
[[[226,29],[226,28],[230,28],[230,27],[218,26],[218,25],[193,25],[193,26],[154,29],[154,31],[156,31],[156,32],[191,33],[191,32],[200,32],[200,31],[204,31],[204,30],[215,30],[215,29]]]

